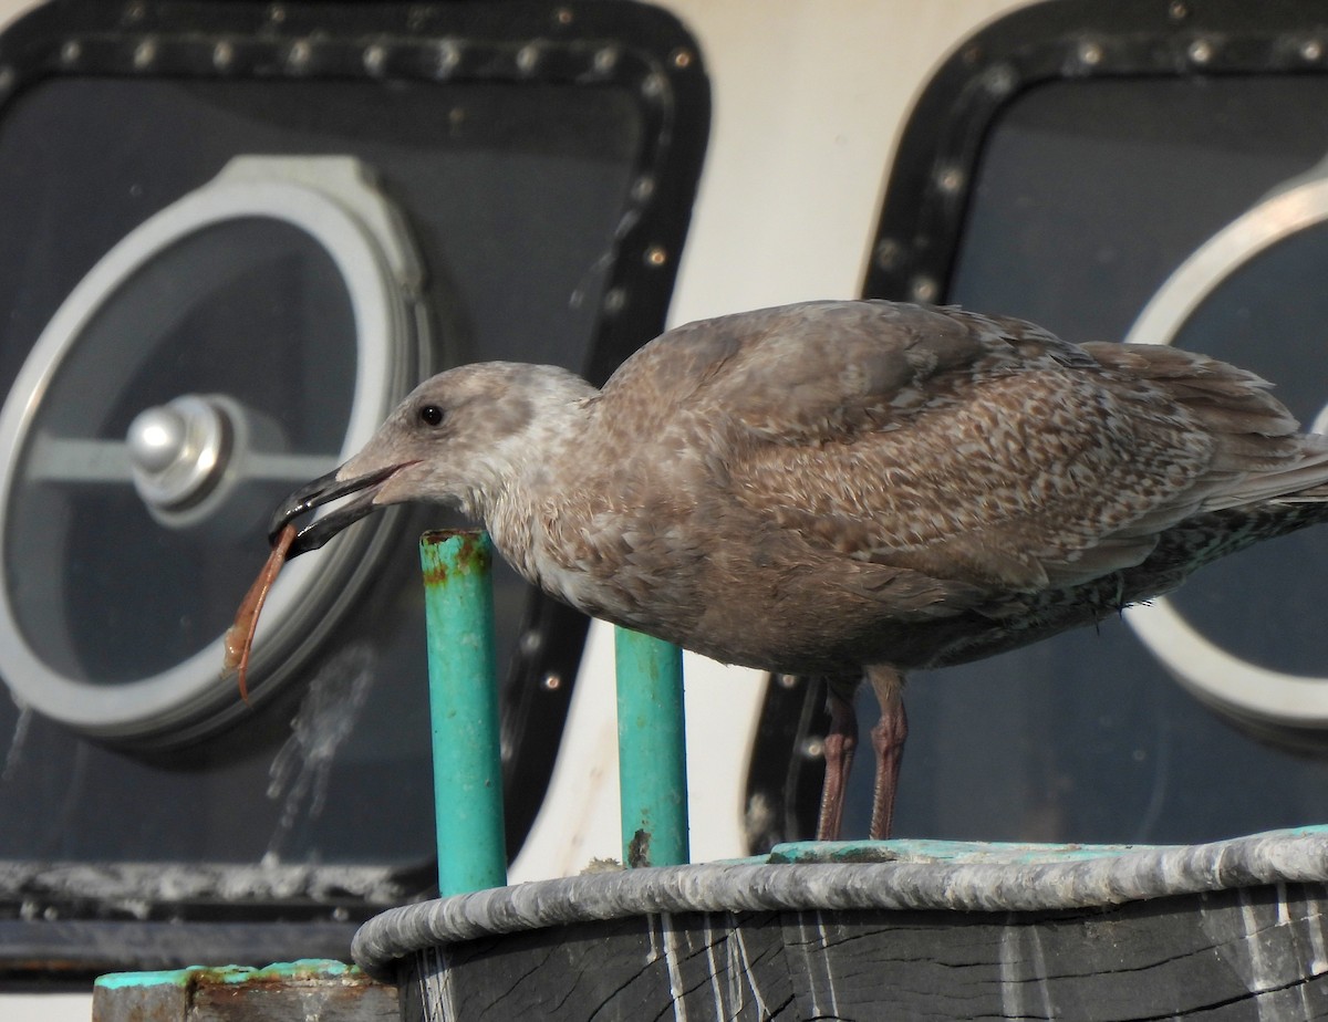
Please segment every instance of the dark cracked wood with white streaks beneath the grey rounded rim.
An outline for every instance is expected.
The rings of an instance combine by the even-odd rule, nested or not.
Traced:
[[[452,1007],[420,995],[404,1018],[1317,1019],[1325,905],[1270,884],[1098,911],[648,913],[417,957],[404,999],[445,981]]]

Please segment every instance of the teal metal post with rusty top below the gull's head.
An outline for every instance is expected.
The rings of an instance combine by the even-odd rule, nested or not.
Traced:
[[[474,530],[420,539],[429,646],[438,891],[507,883],[493,633],[493,544]]]

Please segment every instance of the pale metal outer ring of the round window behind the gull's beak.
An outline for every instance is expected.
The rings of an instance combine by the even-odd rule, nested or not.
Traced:
[[[332,259],[349,295],[356,332],[353,400],[341,449],[329,453],[327,469],[363,446],[420,376],[426,338],[418,336],[424,317],[413,305],[417,263],[401,219],[369,187],[364,169],[344,157],[236,158],[212,182],[126,235],[78,283],[33,345],[0,409],[0,563],[7,556],[8,499],[35,415],[84,329],[171,246],[242,218],[270,219],[307,234]],[[127,473],[125,482],[130,484]],[[317,648],[372,572],[382,530],[352,532],[293,561],[274,585],[255,648],[255,697]],[[150,677],[113,685],[70,677],[33,650],[8,587],[0,585],[4,680],[20,702],[78,730],[114,738],[214,730],[243,709],[234,681],[220,678],[222,661],[218,634]]]

